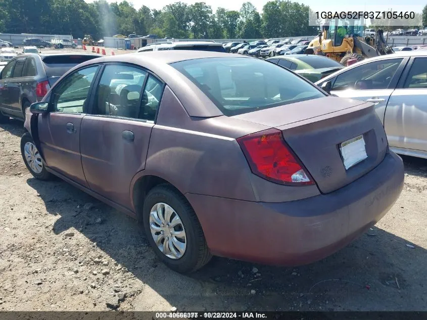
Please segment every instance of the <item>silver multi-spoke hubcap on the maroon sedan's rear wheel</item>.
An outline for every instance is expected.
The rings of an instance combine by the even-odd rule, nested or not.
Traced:
[[[150,231],[157,248],[171,259],[185,253],[187,238],[181,218],[166,203],[156,203],[150,211]]]

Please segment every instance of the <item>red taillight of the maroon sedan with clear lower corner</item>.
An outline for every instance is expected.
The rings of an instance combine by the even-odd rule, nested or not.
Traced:
[[[284,142],[281,131],[268,129],[237,139],[251,170],[282,185],[314,185],[302,163]]]

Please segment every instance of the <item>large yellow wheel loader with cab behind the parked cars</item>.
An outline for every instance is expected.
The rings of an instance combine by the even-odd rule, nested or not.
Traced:
[[[382,29],[376,30],[374,37],[364,37],[364,29],[363,18],[326,21],[322,31],[311,40],[304,53],[326,56],[343,65],[350,59],[360,61],[394,53],[384,39]]]

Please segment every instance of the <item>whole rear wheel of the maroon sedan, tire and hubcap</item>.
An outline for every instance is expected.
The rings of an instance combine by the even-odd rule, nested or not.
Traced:
[[[172,270],[194,272],[211,259],[196,213],[171,186],[150,190],[144,201],[143,223],[155,254]]]

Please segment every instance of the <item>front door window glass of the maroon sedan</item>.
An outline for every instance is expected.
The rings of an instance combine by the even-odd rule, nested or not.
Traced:
[[[53,111],[86,113],[87,95],[97,70],[98,66],[88,67],[64,78],[53,92]]]

